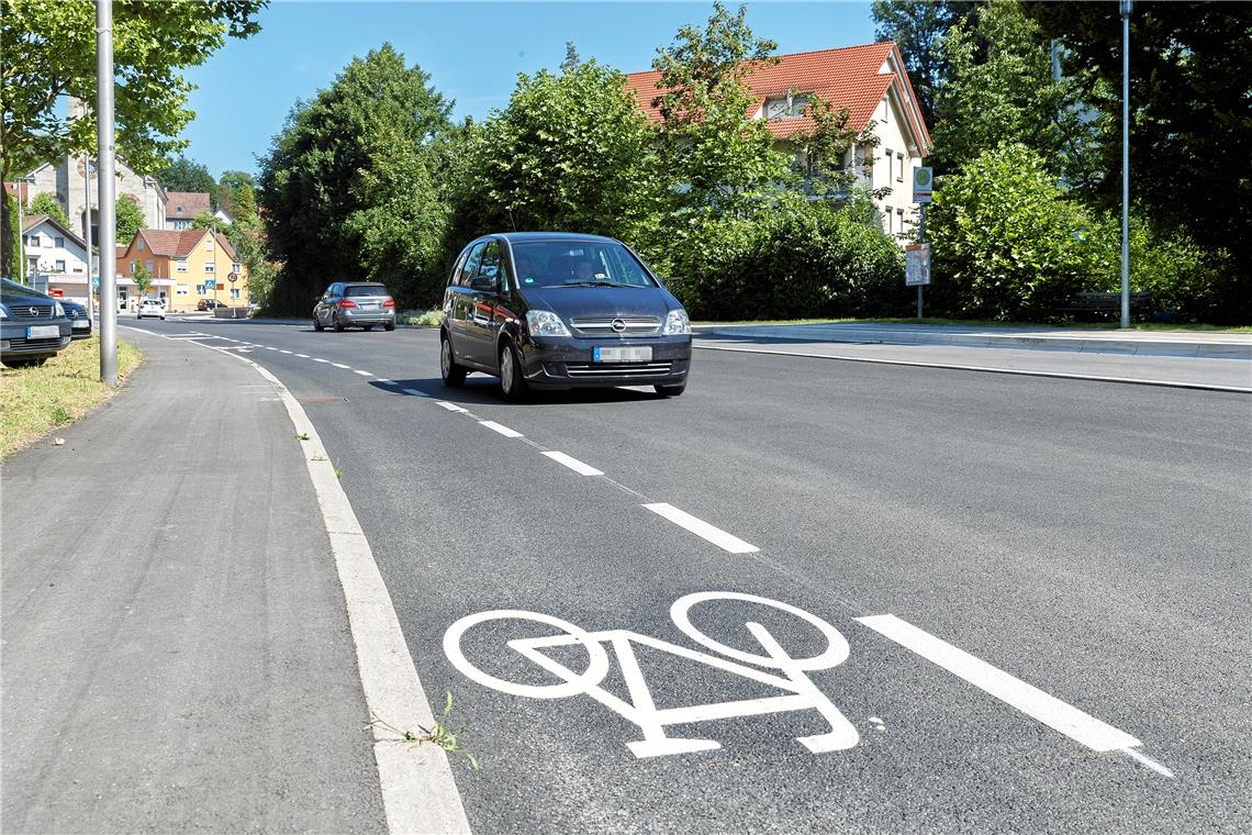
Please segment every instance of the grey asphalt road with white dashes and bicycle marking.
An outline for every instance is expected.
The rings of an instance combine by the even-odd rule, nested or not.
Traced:
[[[432,330],[143,327],[304,403],[477,832],[1252,829],[1244,394],[700,351],[507,404]]]

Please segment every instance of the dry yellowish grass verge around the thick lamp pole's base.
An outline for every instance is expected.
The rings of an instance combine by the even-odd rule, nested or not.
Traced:
[[[118,378],[124,381],[143,362],[143,353],[118,341]],[[115,389],[100,382],[100,337],[80,339],[43,366],[0,371],[0,461],[53,429],[74,423]]]

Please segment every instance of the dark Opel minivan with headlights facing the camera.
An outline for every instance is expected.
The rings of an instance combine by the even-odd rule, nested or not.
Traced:
[[[508,399],[528,388],[650,384],[681,394],[691,367],[686,310],[623,243],[598,235],[483,235],[443,293],[439,372],[478,371]]]

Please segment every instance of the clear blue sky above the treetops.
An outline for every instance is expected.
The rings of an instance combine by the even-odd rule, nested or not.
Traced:
[[[727,3],[730,9],[737,4]],[[187,71],[199,86],[184,138],[187,155],[214,177],[255,173],[255,156],[297,99],[329,86],[354,55],[391,41],[419,65],[454,118],[485,119],[508,104],[518,73],[556,69],[573,41],[582,58],[632,73],[651,69],[656,48],[685,24],[704,25],[712,3],[348,3],[274,0],[260,34],[228,39],[204,65]],[[747,23],[780,53],[874,40],[869,3],[752,3]]]

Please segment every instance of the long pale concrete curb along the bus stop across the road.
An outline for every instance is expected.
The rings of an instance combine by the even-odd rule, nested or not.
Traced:
[[[1068,351],[1073,353],[1133,354],[1149,357],[1199,357],[1206,359],[1252,359],[1252,338],[1162,339],[1126,338],[1093,333],[1040,334],[894,329],[820,325],[715,325],[699,329],[701,336],[722,338],[803,339],[808,342],[883,343],[896,346],[948,346],[957,348],[1009,348],[1015,351]]]

